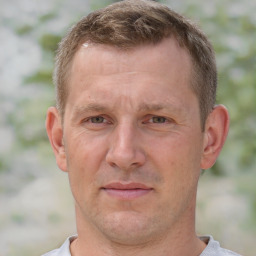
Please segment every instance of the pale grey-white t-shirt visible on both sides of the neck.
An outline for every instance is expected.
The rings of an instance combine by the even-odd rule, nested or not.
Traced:
[[[69,247],[70,243],[75,238],[76,236],[67,238],[65,243],[59,249],[50,251],[42,256],[71,256]],[[212,236],[203,236],[200,237],[200,239],[207,243],[206,248],[203,250],[200,256],[241,256],[240,254],[221,248],[219,242],[215,241]]]

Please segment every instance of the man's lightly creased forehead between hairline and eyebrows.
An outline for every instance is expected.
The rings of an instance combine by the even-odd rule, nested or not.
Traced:
[[[163,97],[182,102],[184,93],[192,93],[190,70],[189,55],[171,38],[126,51],[84,44],[71,67],[67,103],[78,104],[81,97],[81,104],[92,100],[111,103],[117,97],[123,102],[133,99],[133,104],[159,104]]]

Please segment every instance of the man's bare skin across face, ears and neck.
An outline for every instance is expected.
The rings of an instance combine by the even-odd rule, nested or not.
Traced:
[[[77,51],[64,119],[51,107],[46,120],[76,202],[72,255],[193,256],[205,248],[195,233],[197,183],[229,118],[216,106],[202,132],[191,68],[171,38],[126,52]]]

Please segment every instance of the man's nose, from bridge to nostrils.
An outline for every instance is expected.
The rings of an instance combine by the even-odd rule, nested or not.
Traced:
[[[140,147],[140,139],[135,125],[127,122],[117,125],[110,138],[107,163],[125,171],[142,166],[146,156]]]

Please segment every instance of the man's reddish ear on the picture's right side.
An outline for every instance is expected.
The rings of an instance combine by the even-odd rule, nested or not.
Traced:
[[[228,111],[223,105],[216,105],[205,124],[201,169],[209,169],[214,165],[227,138],[228,129]]]

